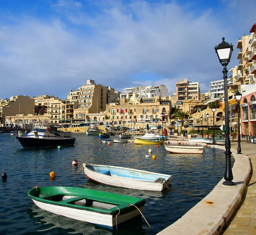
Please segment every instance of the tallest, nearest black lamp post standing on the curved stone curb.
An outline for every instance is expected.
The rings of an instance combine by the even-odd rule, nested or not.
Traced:
[[[230,62],[230,58],[233,51],[233,45],[226,43],[225,38],[222,38],[222,42],[215,46],[215,52],[218,55],[218,59],[223,66],[223,78],[224,78],[224,97],[225,97],[225,157],[226,157],[226,166],[223,182],[224,185],[233,186],[235,183],[233,180],[233,173],[231,168],[231,144],[230,144],[230,129],[229,129],[229,115],[228,115],[228,93],[227,93],[227,65]]]

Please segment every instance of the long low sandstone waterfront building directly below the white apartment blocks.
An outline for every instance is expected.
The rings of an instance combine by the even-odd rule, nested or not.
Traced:
[[[140,98],[138,103],[120,99],[119,103],[107,104],[106,116],[109,123],[122,124],[126,122],[151,122],[161,119],[164,110],[166,117],[172,111],[172,103],[160,96]]]

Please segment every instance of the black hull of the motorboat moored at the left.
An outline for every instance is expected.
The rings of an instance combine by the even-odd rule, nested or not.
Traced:
[[[74,145],[76,141],[75,137],[44,139],[26,136],[16,136],[16,138],[23,146],[23,148],[52,148],[57,146],[70,146]]]

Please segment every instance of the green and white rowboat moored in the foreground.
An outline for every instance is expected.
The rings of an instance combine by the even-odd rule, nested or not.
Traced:
[[[107,227],[143,212],[145,199],[66,186],[35,187],[27,195],[41,209]]]

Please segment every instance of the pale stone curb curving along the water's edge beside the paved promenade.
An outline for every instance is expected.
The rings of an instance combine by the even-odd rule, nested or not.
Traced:
[[[177,144],[177,141],[175,143]],[[188,143],[180,142],[180,144]],[[204,143],[197,145],[225,151],[225,147],[220,145]],[[222,178],[203,200],[157,235],[217,235],[224,230],[241,203],[251,172],[249,157],[244,154],[234,154],[237,152],[234,148],[231,148],[231,152],[236,160],[232,168],[233,182],[236,186],[224,186],[222,183],[225,180]]]

